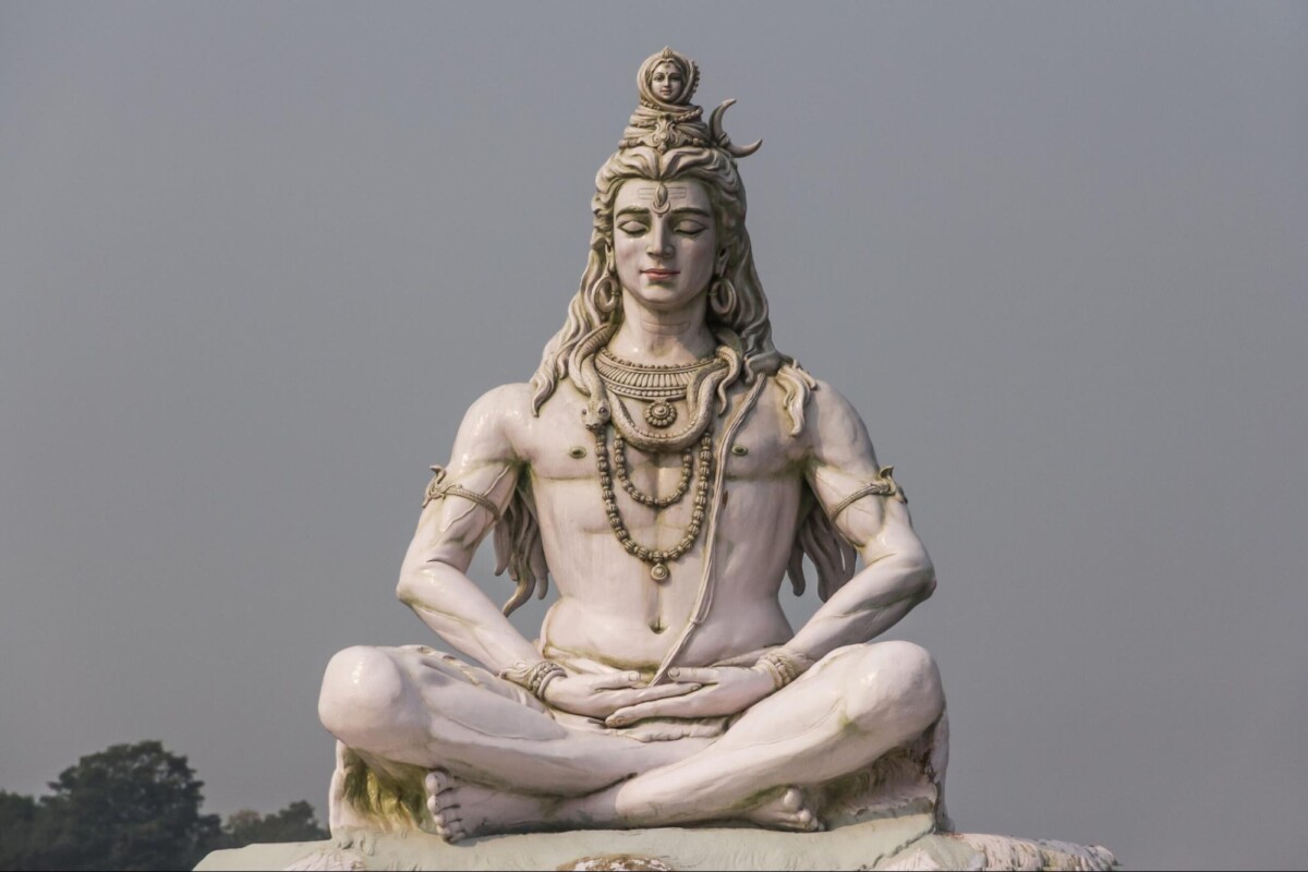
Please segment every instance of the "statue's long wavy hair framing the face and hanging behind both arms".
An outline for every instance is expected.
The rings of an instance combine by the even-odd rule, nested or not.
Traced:
[[[649,146],[624,148],[599,169],[591,199],[594,224],[586,269],[581,288],[568,303],[562,329],[545,345],[540,366],[531,377],[532,413],[540,412],[562,379],[570,380],[587,399],[596,400],[594,357],[623,323],[623,293],[613,259],[613,203],[617,190],[630,179],[693,179],[704,184],[713,204],[718,246],[726,254],[722,273],[714,277],[709,289],[708,327],[721,344],[740,356],[742,377],[747,382],[774,375],[785,392],[790,431],[798,435],[804,426],[804,405],[816,382],[772,344],[768,298],[753,265],[749,233],[744,226],[744,184],[735,159],[713,146],[683,146],[667,152]],[[804,490],[787,571],[795,594],[802,594],[806,586],[803,558],[807,556],[818,569],[819,595],[825,600],[853,575],[854,550],[836,532],[825,512],[816,507],[807,486]],[[505,614],[525,603],[534,590],[544,597],[548,565],[527,476],[519,476],[514,497],[496,527],[494,544],[496,574],[508,569],[509,577],[518,584],[504,607]]]

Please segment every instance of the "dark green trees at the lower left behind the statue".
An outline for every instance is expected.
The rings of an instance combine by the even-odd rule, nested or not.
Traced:
[[[44,796],[0,791],[0,869],[190,869],[218,848],[328,837],[305,800],[203,814],[203,786],[186,757],[141,741],[82,757]]]

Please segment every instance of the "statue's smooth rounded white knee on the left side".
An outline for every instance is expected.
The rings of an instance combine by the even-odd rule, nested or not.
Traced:
[[[345,648],[327,664],[318,716],[347,745],[362,745],[368,735],[394,723],[404,692],[404,675],[386,651]]]

